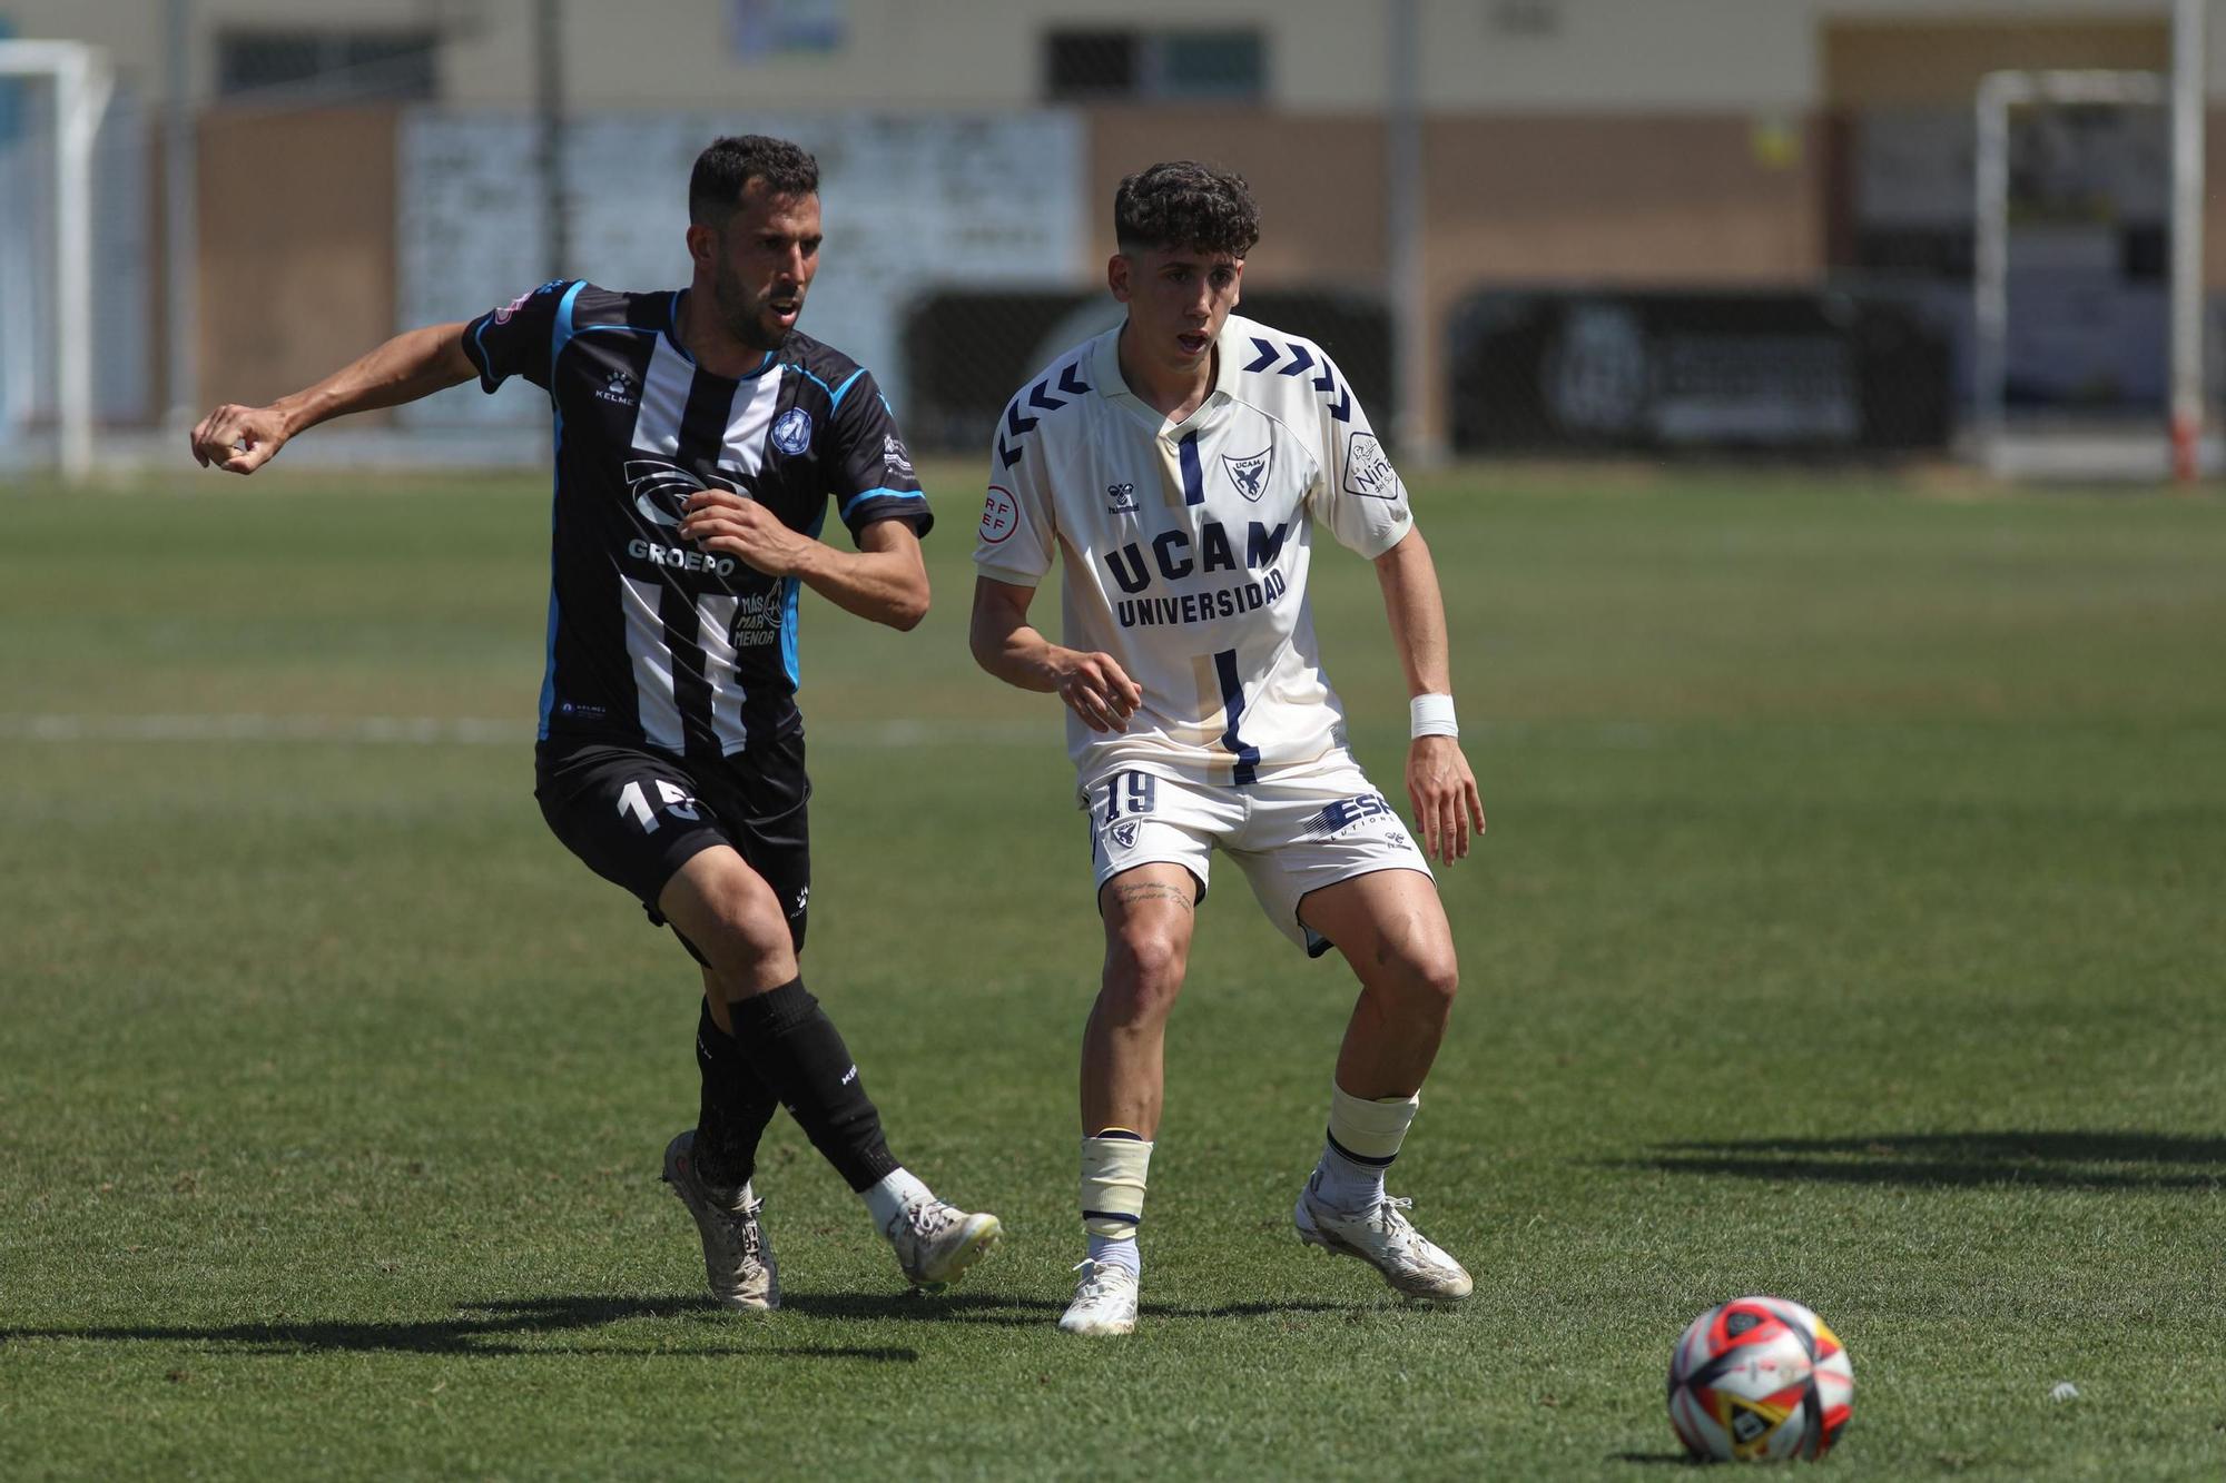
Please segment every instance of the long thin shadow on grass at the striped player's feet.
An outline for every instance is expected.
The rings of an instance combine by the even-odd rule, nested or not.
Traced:
[[[545,1345],[508,1343],[505,1336],[568,1334],[597,1329],[630,1318],[699,1318],[717,1325],[723,1343],[706,1345],[659,1345],[659,1354],[701,1354],[719,1358],[839,1358],[908,1365],[919,1358],[906,1347],[859,1347],[859,1345],[797,1345],[752,1338],[764,1327],[748,1318],[730,1316],[703,1298],[523,1298],[505,1303],[459,1303],[456,1318],[430,1318],[423,1323],[220,1323],[194,1325],[129,1325],[129,1327],[85,1327],[85,1329],[0,1329],[0,1345],[16,1338],[91,1338],[116,1343],[191,1343],[218,1345],[245,1354],[461,1354],[461,1356],[516,1356],[516,1354],[639,1354],[623,1345]]]

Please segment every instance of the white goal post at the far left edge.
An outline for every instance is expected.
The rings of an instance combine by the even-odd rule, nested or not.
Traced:
[[[93,138],[114,73],[107,53],[67,40],[0,40],[0,78],[53,96],[53,410],[62,479],[93,468]]]

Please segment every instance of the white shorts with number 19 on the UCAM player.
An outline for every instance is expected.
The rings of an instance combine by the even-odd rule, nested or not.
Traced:
[[[1311,957],[1331,944],[1298,920],[1309,891],[1373,871],[1429,875],[1405,819],[1342,750],[1242,788],[1124,762],[1086,779],[1082,797],[1100,891],[1142,864],[1180,864],[1204,900],[1206,864],[1220,846],[1269,920]]]

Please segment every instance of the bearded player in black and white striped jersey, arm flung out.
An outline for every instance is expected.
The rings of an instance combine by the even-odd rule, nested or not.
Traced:
[[[712,1296],[779,1307],[752,1185],[775,1107],[848,1180],[904,1276],[939,1289],[999,1236],[888,1151],[804,986],[810,900],[797,595],[913,628],[933,517],[873,374],[797,332],[819,269],[819,165],[715,140],[688,183],[686,289],[556,281],[467,323],[401,334],[267,407],[216,407],[194,456],[236,474],[332,416],[525,376],[556,423],[548,668],[534,795],[597,875],[701,969],[697,1127],[663,1178],[695,1216]],[[855,543],[819,539],[828,503]]]

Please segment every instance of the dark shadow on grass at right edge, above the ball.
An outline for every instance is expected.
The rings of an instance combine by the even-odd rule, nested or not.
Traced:
[[[1832,1185],[2032,1185],[2039,1189],[2217,1189],[2226,1138],[2175,1133],[1874,1133],[1665,1142],[1618,1169]]]

